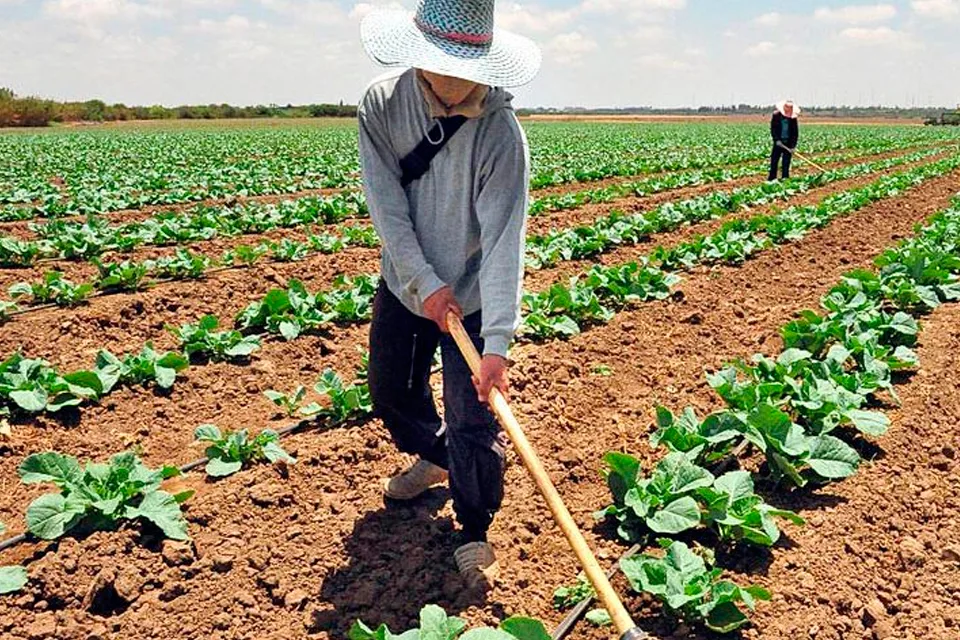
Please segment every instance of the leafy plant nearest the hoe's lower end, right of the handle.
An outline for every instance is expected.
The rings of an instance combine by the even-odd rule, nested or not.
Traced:
[[[642,554],[620,563],[630,587],[649,593],[683,620],[703,623],[720,633],[729,633],[748,622],[739,605],[753,610],[757,600],[770,593],[758,586],[739,587],[720,580],[719,569],[707,569],[704,559],[682,542],[669,542],[663,557]]]

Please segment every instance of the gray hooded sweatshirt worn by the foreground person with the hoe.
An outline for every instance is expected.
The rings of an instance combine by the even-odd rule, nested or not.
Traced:
[[[433,126],[413,69],[379,78],[360,103],[360,160],[381,275],[411,312],[444,285],[482,311],[484,354],[505,356],[520,317],[529,150],[500,88],[405,189],[400,158]]]

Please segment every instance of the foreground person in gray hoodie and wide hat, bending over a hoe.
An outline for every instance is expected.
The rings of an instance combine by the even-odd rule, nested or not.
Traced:
[[[412,18],[368,15],[367,53],[407,69],[375,80],[359,108],[364,192],[383,244],[370,392],[397,447],[417,456],[384,494],[413,500],[449,479],[463,536],[457,568],[484,588],[499,571],[487,529],[506,447],[486,400],[493,387],[507,391],[529,186],[526,138],[502,87],[529,82],[540,66],[536,45],[494,30],[493,14],[494,0],[421,0]],[[448,313],[483,354],[476,379]],[[430,388],[438,345],[443,420]]]

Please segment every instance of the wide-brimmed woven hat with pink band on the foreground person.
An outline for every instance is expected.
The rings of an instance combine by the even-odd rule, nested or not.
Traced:
[[[495,0],[420,0],[414,15],[374,11],[360,25],[371,58],[496,87],[516,87],[540,70],[532,41],[495,29]]]

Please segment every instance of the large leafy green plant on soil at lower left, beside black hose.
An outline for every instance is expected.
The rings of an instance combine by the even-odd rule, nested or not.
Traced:
[[[18,472],[24,484],[52,483],[59,489],[27,507],[27,529],[38,538],[53,540],[81,525],[113,529],[136,519],[153,523],[168,538],[188,537],[180,504],[193,492],[172,495],[160,489],[165,479],[179,474],[175,467],[150,469],[129,451],[109,463],[81,467],[73,456],[46,452],[27,457]]]

